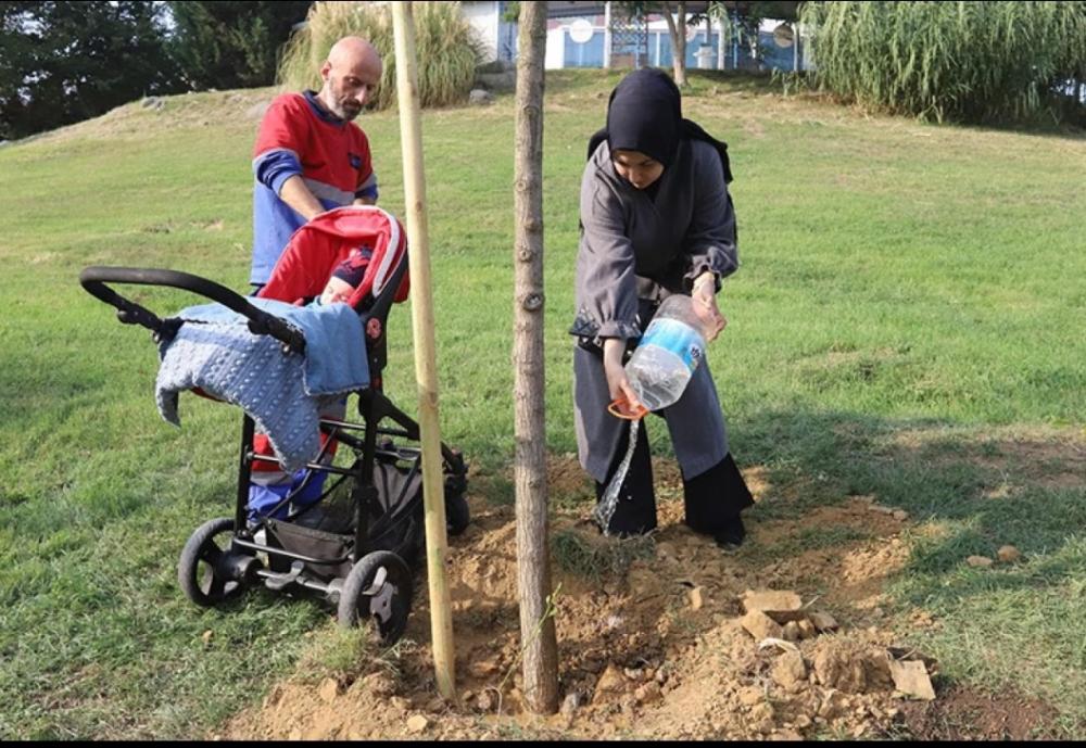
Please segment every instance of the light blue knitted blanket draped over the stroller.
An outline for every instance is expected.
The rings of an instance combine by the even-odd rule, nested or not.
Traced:
[[[178,393],[200,388],[240,406],[268,436],[287,471],[320,452],[319,414],[336,395],[369,385],[363,324],[346,304],[294,306],[249,299],[301,330],[305,355],[283,353],[270,335],[254,335],[248,320],[219,304],[182,309],[186,320],[159,347],[155,402],[163,419],[180,426]]]

